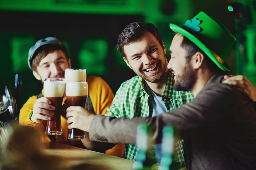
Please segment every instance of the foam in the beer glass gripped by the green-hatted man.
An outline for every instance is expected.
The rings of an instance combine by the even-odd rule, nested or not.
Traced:
[[[66,82],[66,96],[88,96],[87,82]]]

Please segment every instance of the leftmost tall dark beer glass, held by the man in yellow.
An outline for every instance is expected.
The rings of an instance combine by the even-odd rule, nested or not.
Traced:
[[[62,128],[60,122],[61,107],[63,96],[65,93],[64,79],[48,78],[44,81],[45,97],[51,101],[51,105],[55,107],[54,115],[50,116],[51,120],[47,121],[45,133],[48,135],[61,135]]]

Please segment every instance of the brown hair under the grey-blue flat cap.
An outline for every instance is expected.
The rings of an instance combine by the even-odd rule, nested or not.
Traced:
[[[36,57],[32,60],[32,70],[37,72],[37,66],[39,65],[39,63],[41,62],[41,60],[47,56],[49,53],[54,52],[56,50],[61,50],[64,55],[66,60],[68,61],[69,57],[66,51],[63,51],[63,48],[60,45],[57,44],[46,44],[43,45],[41,47],[39,47],[36,52],[35,55]]]

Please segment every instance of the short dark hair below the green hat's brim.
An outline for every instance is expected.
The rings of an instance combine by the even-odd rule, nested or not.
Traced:
[[[219,73],[219,72],[224,72],[221,70],[211,59],[208,57],[204,51],[202,51],[196,44],[194,44],[192,41],[190,41],[187,37],[183,36],[183,40],[180,44],[182,48],[187,50],[187,56],[186,60],[187,62],[190,60],[190,58],[196,53],[196,52],[201,52],[205,57],[206,64],[208,68],[210,69],[211,72],[213,73]]]

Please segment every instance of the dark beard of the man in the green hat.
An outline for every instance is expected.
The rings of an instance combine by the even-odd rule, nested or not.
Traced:
[[[177,91],[191,91],[195,82],[195,74],[189,63],[186,64],[183,74],[176,75],[176,81],[173,88]]]

